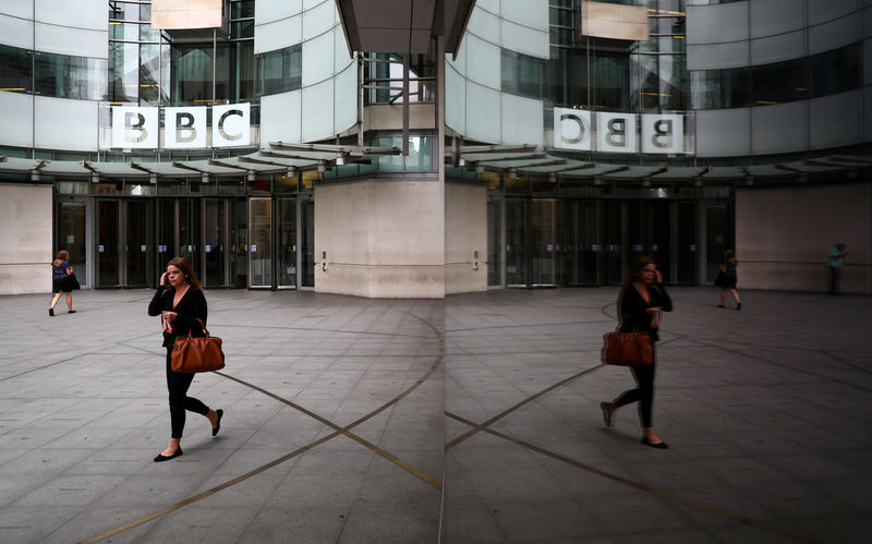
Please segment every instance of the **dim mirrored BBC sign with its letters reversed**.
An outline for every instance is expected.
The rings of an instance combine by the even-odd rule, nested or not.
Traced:
[[[641,131],[637,128],[640,118]],[[680,154],[685,153],[685,117],[554,108],[554,147],[598,153]]]

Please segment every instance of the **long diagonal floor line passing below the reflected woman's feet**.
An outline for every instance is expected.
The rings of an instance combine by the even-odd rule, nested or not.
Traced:
[[[494,435],[494,436],[496,436],[498,438],[502,438],[504,440],[508,440],[508,442],[510,442],[512,444],[517,444],[518,446],[521,446],[523,448],[530,449],[530,450],[535,451],[537,454],[542,454],[543,456],[550,457],[552,459],[556,459],[558,461],[565,462],[565,463],[570,464],[572,467],[585,470],[585,471],[591,472],[593,474],[596,474],[598,476],[607,477],[607,479],[613,480],[615,482],[618,482],[620,484],[629,485],[630,487],[634,487],[634,488],[643,491],[645,493],[650,493],[652,495],[656,495],[658,497],[663,497],[663,498],[671,500],[674,503],[678,503],[680,505],[689,506],[691,508],[695,508],[698,510],[702,510],[702,511],[705,511],[705,512],[708,512],[708,513],[713,513],[715,516],[719,516],[722,518],[726,518],[726,519],[729,519],[729,520],[732,520],[732,521],[738,521],[739,523],[744,523],[746,525],[751,525],[751,527],[756,528],[756,529],[762,529],[764,531],[768,531],[771,533],[775,533],[775,534],[778,534],[780,536],[785,536],[787,539],[791,539],[791,540],[795,540],[795,541],[798,541],[798,542],[808,542],[808,543],[812,543],[812,544],[818,544],[818,541],[813,541],[811,539],[807,539],[807,537],[804,537],[802,535],[799,535],[799,534],[796,534],[796,533],[790,533],[790,532],[787,532],[787,531],[783,531],[783,530],[780,530],[780,529],[778,529],[776,527],[767,525],[765,523],[761,523],[759,521],[754,521],[754,520],[752,520],[750,518],[746,518],[743,516],[737,516],[735,513],[730,513],[728,511],[720,510],[720,509],[712,507],[712,506],[703,505],[703,504],[697,503],[694,500],[690,500],[690,499],[687,499],[687,498],[683,498],[683,497],[679,497],[678,495],[673,495],[671,493],[668,493],[668,492],[665,492],[665,491],[661,491],[661,489],[647,486],[645,484],[640,484],[639,482],[633,482],[632,480],[627,480],[626,477],[619,476],[617,474],[613,474],[610,472],[606,472],[604,470],[600,470],[600,469],[597,469],[595,467],[591,467],[590,464],[585,464],[585,463],[576,461],[574,459],[569,459],[568,457],[564,457],[560,454],[555,454],[554,451],[547,450],[545,448],[541,448],[541,447],[538,447],[538,446],[536,446],[534,444],[530,444],[529,442],[521,440],[520,438],[516,438],[513,436],[509,436],[507,434],[500,433],[499,431],[494,431],[492,428],[486,428],[484,425],[479,425],[477,423],[473,423],[473,422],[471,422],[471,421],[469,421],[469,420],[467,420],[464,418],[461,418],[460,415],[453,414],[451,412],[445,412],[445,415],[451,418],[452,420],[459,421],[460,423],[463,423],[464,425],[469,425],[469,426],[471,426],[473,428],[476,428],[479,431],[483,431],[483,432],[488,433],[491,435]]]

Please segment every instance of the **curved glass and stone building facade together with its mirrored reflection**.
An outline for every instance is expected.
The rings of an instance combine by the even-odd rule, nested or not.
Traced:
[[[869,0],[0,5],[0,292],[872,292]]]

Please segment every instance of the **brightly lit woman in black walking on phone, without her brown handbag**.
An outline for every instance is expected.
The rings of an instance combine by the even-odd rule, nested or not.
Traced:
[[[211,424],[211,435],[221,430],[223,410],[210,410],[199,400],[189,397],[187,389],[194,380],[193,373],[172,370],[172,347],[177,336],[204,336],[207,317],[206,297],[201,290],[194,269],[183,257],[173,257],[167,263],[167,271],[160,276],[160,285],[148,304],[148,315],[160,315],[164,325],[164,347],[167,348],[167,389],[170,397],[170,444],[155,457],[155,462],[169,461],[182,455],[181,439],[184,431],[185,410],[205,415]],[[201,325],[201,322],[203,324]]]

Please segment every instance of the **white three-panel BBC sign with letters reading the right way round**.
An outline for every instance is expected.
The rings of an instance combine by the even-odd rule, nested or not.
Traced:
[[[112,147],[190,149],[251,145],[251,105],[211,107],[211,142],[207,142],[206,106],[164,109],[164,142],[159,142],[158,110],[117,106],[112,108]]]

